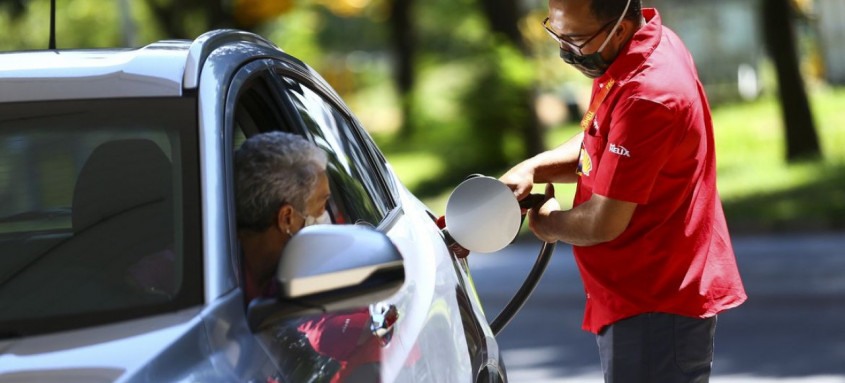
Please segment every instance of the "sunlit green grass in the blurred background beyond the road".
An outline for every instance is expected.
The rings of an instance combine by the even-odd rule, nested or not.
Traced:
[[[733,232],[845,228],[845,88],[814,89],[810,97],[824,158],[797,164],[785,161],[776,98],[764,96],[753,102],[714,107],[718,186]],[[577,129],[565,125],[550,130],[547,146],[565,141]],[[405,148],[387,150],[385,155],[411,190],[443,174],[449,166],[425,151]],[[542,190],[535,188],[538,193]],[[574,186],[556,185],[555,191],[561,204],[568,207]],[[423,202],[442,214],[450,192],[443,190]]]

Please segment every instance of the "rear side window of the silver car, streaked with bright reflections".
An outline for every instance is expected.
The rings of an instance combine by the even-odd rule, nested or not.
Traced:
[[[378,225],[387,214],[374,168],[354,137],[353,125],[332,104],[313,90],[286,81],[288,92],[315,143],[329,155],[332,203],[347,217],[335,222]]]

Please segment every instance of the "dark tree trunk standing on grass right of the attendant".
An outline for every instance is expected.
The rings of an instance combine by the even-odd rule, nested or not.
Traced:
[[[821,148],[801,77],[789,0],[766,0],[760,4],[763,7],[766,47],[777,71],[786,133],[786,160],[796,162],[818,158]]]

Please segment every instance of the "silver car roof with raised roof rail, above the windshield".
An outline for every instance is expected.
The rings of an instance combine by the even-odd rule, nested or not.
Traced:
[[[0,102],[180,96],[197,87],[214,49],[236,42],[278,49],[252,33],[216,30],[137,49],[0,53]]]

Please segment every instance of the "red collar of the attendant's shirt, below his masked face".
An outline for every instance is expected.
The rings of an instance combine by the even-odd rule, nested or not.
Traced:
[[[616,81],[627,80],[657,48],[663,35],[663,21],[654,8],[643,8],[642,12],[646,24],[625,43],[619,55],[607,68],[607,72],[596,79],[599,83],[611,78]]]

